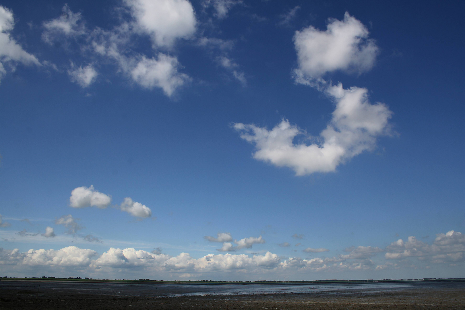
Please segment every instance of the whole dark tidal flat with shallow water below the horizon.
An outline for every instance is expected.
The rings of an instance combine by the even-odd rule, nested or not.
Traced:
[[[241,285],[2,280],[0,309],[465,309],[465,282]]]

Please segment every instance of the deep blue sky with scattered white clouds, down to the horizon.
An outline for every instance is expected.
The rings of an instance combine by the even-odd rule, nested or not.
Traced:
[[[465,277],[462,3],[0,5],[3,275]]]

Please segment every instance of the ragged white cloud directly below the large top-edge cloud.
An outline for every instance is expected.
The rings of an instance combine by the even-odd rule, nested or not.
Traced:
[[[163,92],[169,97],[177,88],[190,80],[187,74],[178,72],[179,66],[176,57],[163,53],[159,53],[157,59],[142,56],[142,59],[131,70],[131,77],[144,88],[159,87],[163,89]]]

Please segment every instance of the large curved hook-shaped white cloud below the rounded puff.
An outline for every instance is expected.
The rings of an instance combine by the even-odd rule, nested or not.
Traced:
[[[326,89],[336,102],[332,119],[320,133],[320,143],[295,144],[298,135],[312,137],[283,119],[272,130],[253,124],[236,123],[240,137],[256,147],[253,158],[279,167],[290,167],[296,175],[331,172],[365,150],[372,150],[377,137],[390,132],[388,120],[392,112],[385,104],[371,104],[365,88],[344,89],[342,84]]]

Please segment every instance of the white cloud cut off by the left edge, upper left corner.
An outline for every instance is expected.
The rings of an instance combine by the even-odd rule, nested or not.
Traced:
[[[14,71],[18,62],[24,65],[40,66],[39,60],[24,51],[11,37],[13,27],[13,12],[0,6],[0,79],[7,73],[7,68]]]

